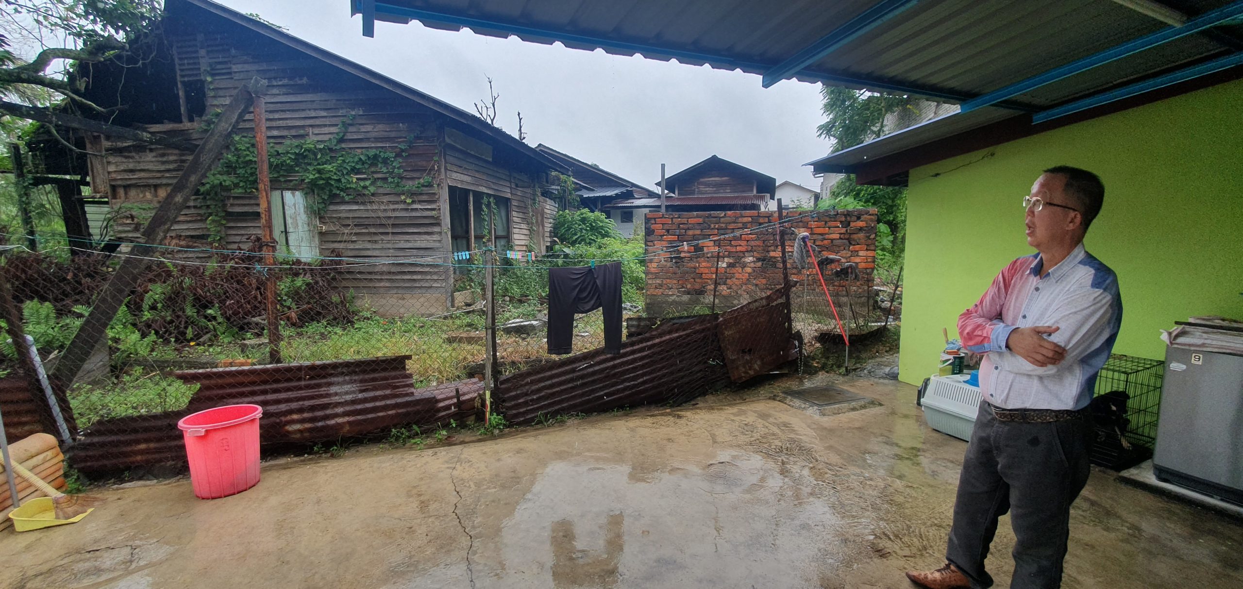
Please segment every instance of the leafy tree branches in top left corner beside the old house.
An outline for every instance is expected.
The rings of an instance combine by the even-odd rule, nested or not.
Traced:
[[[102,111],[77,96],[86,80],[71,82],[56,62],[96,63],[129,48],[128,42],[159,17],[158,0],[0,0],[0,94],[29,98],[44,88]],[[48,43],[53,40],[53,43]],[[16,43],[15,43],[16,41]],[[36,47],[17,55],[17,45]],[[20,50],[19,50],[20,51]],[[35,52],[37,51],[37,52]]]

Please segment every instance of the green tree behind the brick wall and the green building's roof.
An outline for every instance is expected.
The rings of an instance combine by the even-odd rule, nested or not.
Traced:
[[[820,112],[827,121],[815,128],[819,137],[833,142],[833,150],[840,152],[885,134],[885,117],[905,108],[915,108],[919,98],[909,94],[856,91],[837,86],[823,86]],[[843,204],[864,204],[876,209],[878,221],[891,235],[888,246],[880,249],[890,258],[901,257],[906,236],[906,189],[900,186],[860,186],[854,174],[842,176],[829,189],[829,198],[820,200],[820,209],[839,209]],[[881,230],[880,232],[885,232]]]

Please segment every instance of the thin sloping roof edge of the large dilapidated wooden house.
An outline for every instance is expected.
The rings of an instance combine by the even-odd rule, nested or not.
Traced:
[[[255,20],[250,16],[237,12],[236,10],[232,10],[227,6],[216,4],[211,0],[167,0],[164,2],[165,14],[168,14],[169,7],[175,9],[178,4],[183,2],[204,9],[216,16],[232,21],[234,24],[241,25],[246,29],[250,29],[251,31],[255,31],[268,39],[278,41],[283,45],[287,45],[311,57],[314,57],[319,61],[336,66],[337,68],[353,73],[354,76],[358,76],[368,82],[372,82],[385,89],[393,91],[405,98],[409,98],[419,104],[423,104],[424,107],[430,108],[431,111],[435,111],[436,113],[444,114],[445,117],[449,117],[459,123],[462,123],[464,126],[470,127],[471,129],[479,130],[485,135],[496,139],[502,145],[515,149],[520,154],[526,155],[543,165],[547,165],[548,168],[552,168],[558,171],[569,171],[568,168],[562,163],[544,155],[541,152],[537,152],[531,145],[520,142],[516,137],[506,133],[505,130],[493,127],[491,124],[487,124],[484,119],[479,118],[477,116],[465,109],[457,108],[445,101],[441,101],[431,94],[428,94],[426,92],[419,91],[405,83],[398,82],[397,80],[393,80],[380,72],[377,72],[375,70],[372,70],[358,62],[347,60],[323,47],[319,47],[302,39],[298,39],[293,35],[290,35],[288,32],[276,29],[275,26],[260,22],[259,20]]]

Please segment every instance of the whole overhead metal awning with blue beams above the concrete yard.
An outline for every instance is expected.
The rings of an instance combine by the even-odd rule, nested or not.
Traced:
[[[1243,0],[351,2],[367,35],[374,35],[375,20],[418,20],[740,70],[763,76],[764,86],[796,78],[962,104],[961,113],[815,160],[817,171],[854,171],[914,145],[994,129],[1007,118],[1049,128],[1167,86],[1243,76]]]

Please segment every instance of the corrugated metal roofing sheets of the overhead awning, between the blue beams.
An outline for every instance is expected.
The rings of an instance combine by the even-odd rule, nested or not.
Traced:
[[[562,41],[574,48],[604,48],[617,55],[676,58],[682,63],[763,73],[875,4],[876,0],[380,0],[377,10],[383,14],[405,9],[438,29],[457,30],[466,22],[484,35],[503,37],[518,31],[515,36],[532,42]],[[1195,16],[1229,0],[1177,4]],[[921,1],[796,77],[876,89],[902,87],[936,98],[962,99],[1166,26],[1105,0]],[[1014,102],[1045,107],[1228,51],[1204,35],[1188,36],[1038,88],[1016,97]]]

